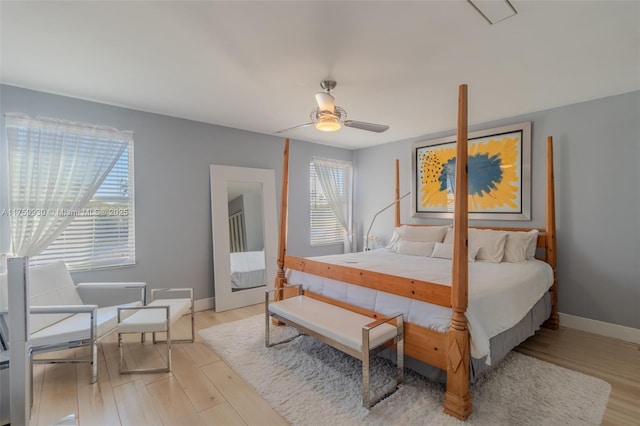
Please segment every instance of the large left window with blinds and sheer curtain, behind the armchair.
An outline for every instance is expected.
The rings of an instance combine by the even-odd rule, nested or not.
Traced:
[[[13,113],[5,128],[9,184],[0,226],[10,232],[0,246],[31,265],[134,264],[133,132]]]

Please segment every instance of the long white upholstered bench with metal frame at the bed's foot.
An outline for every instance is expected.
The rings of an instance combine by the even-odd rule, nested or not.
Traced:
[[[295,286],[290,286],[295,287]],[[299,287],[300,289],[300,287]],[[402,314],[372,321],[370,317],[299,294],[277,302],[265,300],[265,345],[273,346],[269,318],[297,328],[321,342],[362,361],[362,405],[371,408],[402,386],[404,377],[404,331]],[[301,290],[300,290],[301,291]],[[391,320],[396,325],[390,324]],[[282,343],[282,342],[281,342]],[[396,345],[396,380],[378,397],[370,391],[371,357]]]

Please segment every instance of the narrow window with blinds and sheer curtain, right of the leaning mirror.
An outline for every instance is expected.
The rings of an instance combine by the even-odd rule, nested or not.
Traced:
[[[320,167],[323,173],[318,173]],[[351,228],[352,170],[350,162],[314,158],[310,163],[311,246],[344,243]]]

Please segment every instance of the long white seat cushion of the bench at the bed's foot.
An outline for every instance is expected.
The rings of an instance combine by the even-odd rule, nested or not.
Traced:
[[[269,304],[269,312],[288,318],[355,351],[362,352],[362,327],[375,321],[364,315],[320,302],[306,296],[296,296]],[[381,324],[369,334],[369,345],[375,348],[393,339],[395,326]]]

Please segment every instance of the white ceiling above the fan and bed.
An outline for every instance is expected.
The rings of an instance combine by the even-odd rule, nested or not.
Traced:
[[[309,121],[323,79],[381,134],[282,136],[360,148],[640,90],[639,1],[2,0],[4,84],[273,134]],[[72,117],[62,117],[70,118]]]

